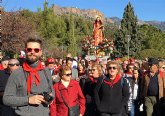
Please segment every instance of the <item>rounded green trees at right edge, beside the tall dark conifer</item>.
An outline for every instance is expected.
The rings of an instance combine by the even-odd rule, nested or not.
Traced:
[[[142,51],[139,52],[139,57],[165,57],[165,33],[144,24],[138,29],[138,35],[142,40]]]

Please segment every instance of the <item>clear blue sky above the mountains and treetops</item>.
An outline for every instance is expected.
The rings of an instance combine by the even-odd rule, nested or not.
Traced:
[[[43,8],[45,0],[1,0],[5,11],[29,9],[37,11]],[[165,21],[165,0],[47,0],[49,6],[76,7],[80,9],[96,9],[105,17],[123,17],[124,8],[131,2],[135,15],[143,21]]]

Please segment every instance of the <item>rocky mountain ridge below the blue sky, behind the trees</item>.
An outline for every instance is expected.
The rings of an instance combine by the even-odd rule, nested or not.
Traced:
[[[102,12],[100,12],[99,10],[96,9],[79,9],[76,7],[59,7],[57,5],[53,5],[53,11],[54,13],[56,13],[57,15],[61,15],[61,14],[76,14],[79,16],[83,16],[85,18],[90,18],[90,19],[95,19],[97,15],[100,15],[103,19],[103,21],[105,21],[106,23],[113,23],[113,24],[117,24],[120,25],[121,19],[118,17],[105,17],[104,14]],[[150,24],[155,26],[158,29],[161,29],[162,31],[165,31],[165,21],[142,21],[142,20],[138,20],[138,24],[139,25],[143,25],[143,24]]]

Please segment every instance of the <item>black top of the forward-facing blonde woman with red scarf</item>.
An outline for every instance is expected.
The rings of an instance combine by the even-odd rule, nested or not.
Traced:
[[[104,80],[110,81],[108,77]],[[129,99],[129,85],[127,80],[120,79],[113,87],[105,83],[103,78],[98,80],[94,90],[97,110],[101,113],[120,113]],[[122,84],[123,81],[123,84]]]

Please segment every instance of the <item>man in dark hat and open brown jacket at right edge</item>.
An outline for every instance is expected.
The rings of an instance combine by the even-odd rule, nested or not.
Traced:
[[[159,71],[158,59],[149,58],[149,71],[142,78],[141,99],[146,116],[162,116],[161,100],[165,98],[165,75]]]

